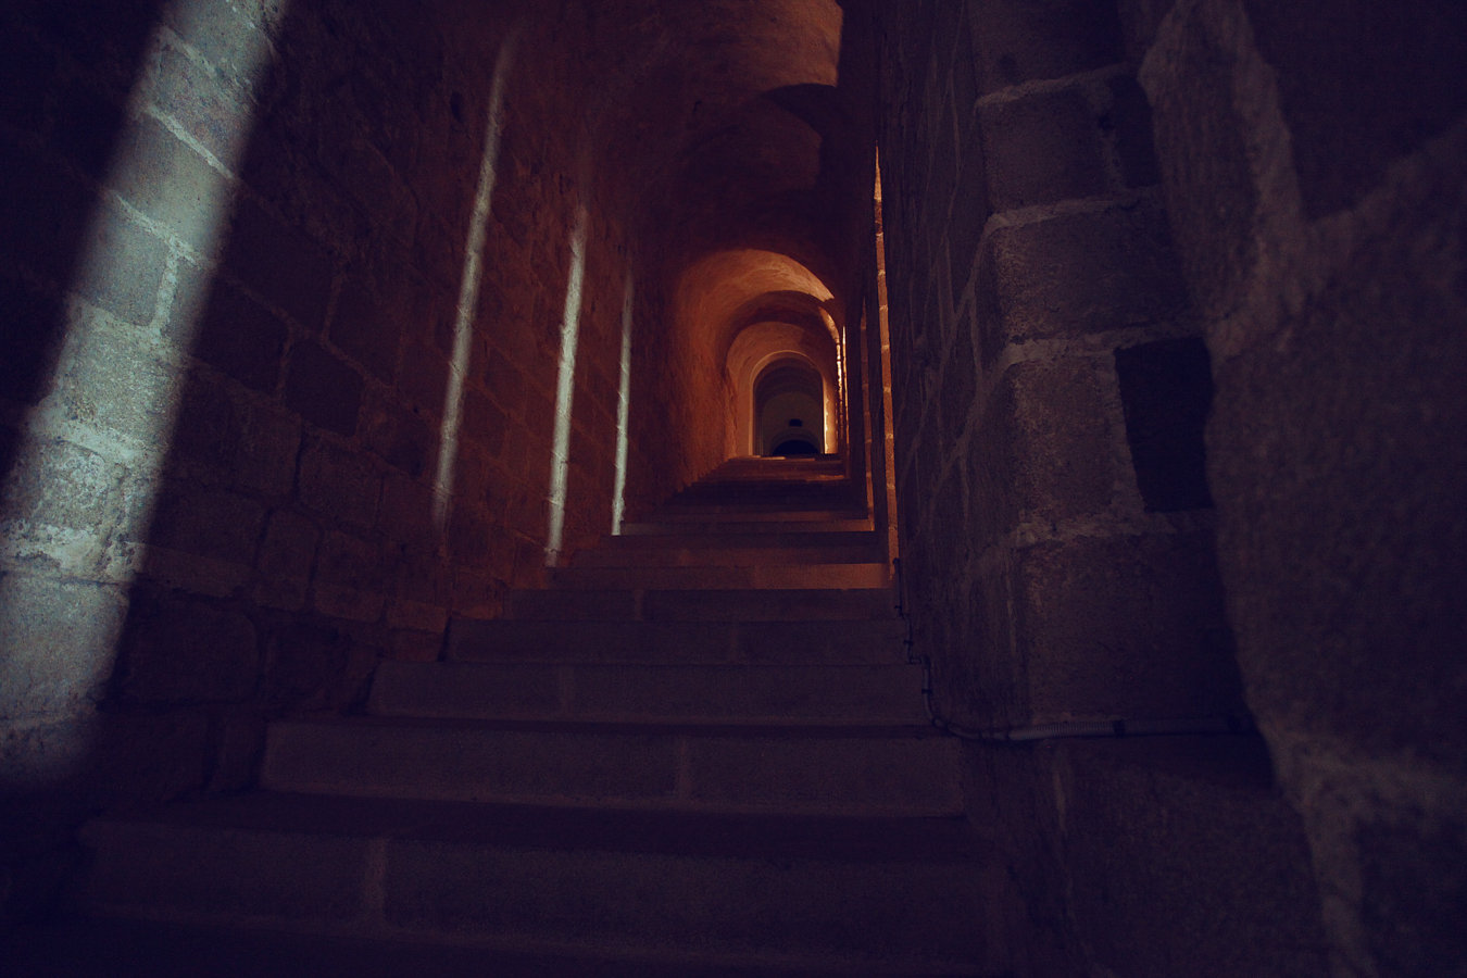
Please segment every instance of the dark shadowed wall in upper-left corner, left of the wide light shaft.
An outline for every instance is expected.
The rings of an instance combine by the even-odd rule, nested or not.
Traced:
[[[158,10],[156,0],[25,1],[0,15],[0,479],[16,460],[25,411],[50,393],[63,295],[78,279],[88,226],[95,217],[106,235],[117,224],[110,205],[98,213],[97,182]],[[141,302],[161,257],[144,251],[132,264],[136,282],[84,298],[150,312]]]

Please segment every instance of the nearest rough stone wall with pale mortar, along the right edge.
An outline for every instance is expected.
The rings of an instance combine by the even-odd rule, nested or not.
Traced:
[[[1467,974],[1467,13],[1122,9],[1213,358],[1238,658],[1335,972]]]

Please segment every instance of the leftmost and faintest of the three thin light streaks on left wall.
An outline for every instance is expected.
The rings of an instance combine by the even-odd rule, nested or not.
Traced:
[[[464,378],[468,377],[474,345],[474,314],[478,309],[478,287],[484,274],[484,236],[489,211],[494,199],[499,166],[499,136],[503,126],[505,87],[513,67],[518,31],[512,31],[499,45],[494,81],[489,92],[489,113],[484,126],[484,155],[478,164],[478,188],[474,192],[474,214],[468,223],[464,245],[464,276],[459,279],[458,315],[453,320],[453,359],[443,391],[443,424],[439,428],[439,466],[433,479],[433,522],[443,531],[453,499],[453,465],[458,460],[459,427],[464,416]]]

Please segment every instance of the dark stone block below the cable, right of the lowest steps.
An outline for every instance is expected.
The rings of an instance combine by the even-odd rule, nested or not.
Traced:
[[[1099,966],[1329,974],[1309,845],[1259,738],[1071,740],[1052,758],[1067,902]]]

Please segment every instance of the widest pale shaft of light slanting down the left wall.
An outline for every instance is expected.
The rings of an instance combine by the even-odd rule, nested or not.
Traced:
[[[65,337],[47,390],[22,422],[15,462],[0,487],[0,691],[9,736],[3,780],[48,783],[89,755],[94,704],[113,672],[129,587],[150,553],[157,487],[173,443],[188,353],[213,286],[235,208],[239,163],[252,114],[222,136],[197,139],[167,92],[198,85],[204,56],[188,38],[239,23],[229,73],[241,106],[274,60],[264,18],[245,9],[220,18],[224,0],[178,0],[154,26],[123,110],[103,189],[81,238],[63,304]],[[233,4],[229,4],[230,7]],[[270,16],[285,16],[276,9]],[[173,57],[167,56],[173,54]],[[208,75],[204,70],[202,75]],[[161,135],[158,135],[161,130]],[[151,138],[150,138],[151,136]],[[158,141],[201,160],[210,179],[188,179],[156,158]],[[197,174],[195,174],[197,177]],[[88,296],[117,292],[135,273],[119,224],[142,229],[166,251],[151,321],[128,321]],[[129,371],[126,359],[135,358]],[[126,372],[126,381],[119,378]],[[85,408],[79,411],[78,406]],[[113,419],[113,421],[109,421]],[[97,504],[89,521],[54,513],[88,474],[109,474],[125,501]],[[94,485],[103,499],[106,487]]]

